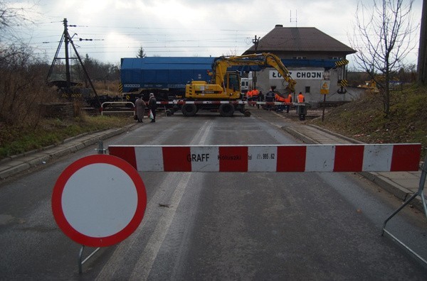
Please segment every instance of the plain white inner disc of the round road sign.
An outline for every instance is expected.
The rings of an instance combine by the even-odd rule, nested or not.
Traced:
[[[105,163],[75,171],[65,184],[61,199],[68,223],[90,237],[107,237],[122,231],[135,216],[138,204],[132,179],[125,171]]]

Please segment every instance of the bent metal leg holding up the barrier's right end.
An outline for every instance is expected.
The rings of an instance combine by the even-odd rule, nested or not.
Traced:
[[[381,236],[384,236],[384,232],[387,233],[389,236],[391,236],[391,238],[393,238],[395,241],[397,241],[398,243],[400,243],[401,246],[404,246],[404,248],[406,248],[406,250],[408,250],[413,255],[415,255],[416,258],[418,258],[419,260],[421,260],[423,263],[425,263],[427,265],[427,260],[425,260],[424,258],[422,258],[417,253],[415,253],[411,248],[409,248],[402,241],[400,241],[398,238],[396,238],[396,236],[394,236],[393,234],[391,234],[389,231],[386,230],[386,224],[387,224],[387,222],[391,218],[393,218],[397,213],[399,213],[399,211],[401,211],[401,209],[404,209],[404,206],[406,206],[407,204],[409,204],[409,202],[411,202],[413,199],[415,199],[415,197],[417,197],[418,195],[421,197],[421,203],[423,204],[424,214],[426,215],[426,218],[427,218],[427,205],[426,205],[426,198],[424,197],[424,185],[426,184],[426,176],[427,176],[427,156],[426,156],[426,160],[424,160],[423,166],[421,167],[421,177],[420,177],[420,183],[419,183],[419,187],[418,187],[418,192],[412,194],[412,196],[409,197],[409,199],[406,200],[406,202],[404,202],[404,204],[402,204],[402,206],[400,206],[399,209],[397,209],[396,211],[394,211],[394,213],[391,214],[384,221]]]

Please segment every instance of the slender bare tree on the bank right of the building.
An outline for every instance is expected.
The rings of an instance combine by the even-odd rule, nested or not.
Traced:
[[[384,114],[390,114],[390,82],[404,67],[404,57],[415,48],[411,37],[411,10],[414,0],[372,0],[367,6],[357,3],[352,48],[357,50],[357,65],[366,71],[379,87]]]

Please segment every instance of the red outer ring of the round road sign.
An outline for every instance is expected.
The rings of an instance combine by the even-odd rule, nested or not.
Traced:
[[[135,214],[130,220],[129,224],[127,224],[127,226],[125,226],[125,228],[123,228],[121,231],[107,237],[90,237],[76,231],[75,228],[73,228],[73,226],[68,223],[67,219],[65,218],[65,214],[63,213],[62,194],[65,188],[65,184],[67,184],[68,180],[75,172],[87,165],[99,163],[114,165],[129,175],[132,182],[135,184],[137,191],[137,209],[135,210]],[[112,246],[125,240],[125,238],[129,237],[141,223],[142,218],[144,217],[146,206],[147,192],[145,190],[144,182],[142,182],[142,178],[138,174],[137,170],[135,170],[135,168],[132,167],[130,163],[113,155],[89,155],[76,160],[65,168],[65,170],[58,177],[55,186],[53,187],[52,211],[56,224],[58,224],[63,233],[65,233],[65,235],[68,236],[71,240],[88,247]]]

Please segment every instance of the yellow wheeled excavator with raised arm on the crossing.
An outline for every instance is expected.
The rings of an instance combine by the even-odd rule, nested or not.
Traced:
[[[290,77],[288,69],[280,58],[272,53],[260,53],[240,56],[217,57],[212,63],[211,82],[191,81],[185,88],[185,101],[190,101],[182,106],[184,116],[194,116],[199,109],[218,110],[221,116],[233,116],[234,111],[241,111],[245,116],[251,113],[245,111],[241,99],[241,81],[238,72],[227,71],[229,67],[255,65],[261,68],[274,67],[283,79],[288,82],[288,92],[295,92],[295,80]],[[286,94],[287,96],[287,94]],[[191,103],[194,101],[194,103]],[[218,101],[221,101],[219,103]],[[224,102],[225,101],[225,102]]]

